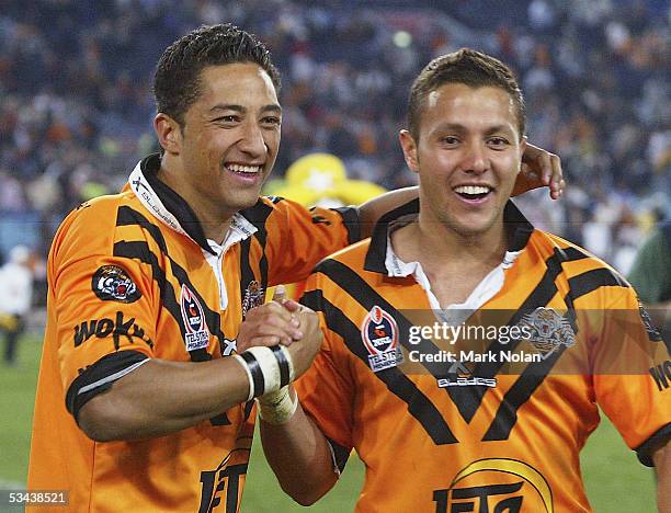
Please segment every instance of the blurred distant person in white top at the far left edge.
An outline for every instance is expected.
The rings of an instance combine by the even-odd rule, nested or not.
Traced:
[[[4,334],[4,363],[16,364],[16,344],[31,309],[33,273],[31,251],[25,246],[12,248],[8,262],[0,267],[0,331]]]

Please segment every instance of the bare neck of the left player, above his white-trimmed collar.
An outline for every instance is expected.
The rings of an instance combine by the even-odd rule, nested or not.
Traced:
[[[205,237],[220,244],[224,242],[232,216],[236,213],[224,212],[220,205],[213,204],[207,197],[203,197],[202,194],[198,194],[192,183],[186,179],[187,173],[189,171],[183,169],[179,160],[171,159],[169,153],[163,155],[161,158],[161,168],[158,172],[159,180],[177,192],[186,202],[196,215]]]

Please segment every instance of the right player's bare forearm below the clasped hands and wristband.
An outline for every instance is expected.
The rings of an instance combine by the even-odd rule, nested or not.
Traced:
[[[333,487],[338,475],[328,442],[300,406],[284,424],[261,420],[260,425],[265,458],[282,489],[296,502],[312,504]]]

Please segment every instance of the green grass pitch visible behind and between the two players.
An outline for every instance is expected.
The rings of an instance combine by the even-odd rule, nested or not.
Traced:
[[[41,341],[26,338],[19,347],[19,365],[8,368],[0,364],[0,407],[3,412],[0,430],[0,487],[25,482],[39,352]],[[638,463],[607,419],[590,438],[581,459],[588,495],[594,511],[656,511],[652,471]],[[363,465],[352,458],[334,490],[318,505],[302,508],[284,495],[263,459],[261,446],[255,443],[242,511],[352,511],[362,480]]]

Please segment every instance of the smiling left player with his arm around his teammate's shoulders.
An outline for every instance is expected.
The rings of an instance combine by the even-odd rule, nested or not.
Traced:
[[[31,491],[62,490],[70,511],[239,509],[252,399],[303,374],[321,342],[315,312],[263,305],[265,288],[305,278],[359,239],[360,219],[400,204],[308,212],[259,197],[278,89],[266,48],[231,25],[161,56],[161,155],[71,213],[49,254]],[[557,158],[532,159],[546,183],[555,171],[557,196]]]

